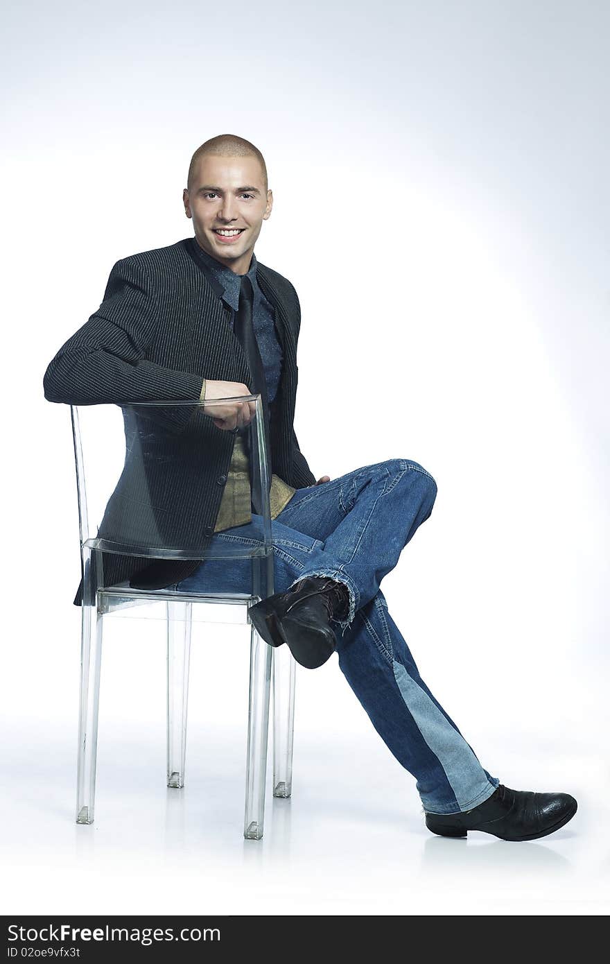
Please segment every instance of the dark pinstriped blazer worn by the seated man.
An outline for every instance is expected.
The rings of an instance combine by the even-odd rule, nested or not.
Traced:
[[[200,259],[192,254],[191,244],[192,239],[185,238],[116,262],[102,304],[67,339],[46,369],[43,388],[48,401],[68,405],[195,401],[204,378],[252,386],[250,367],[230,325],[230,311]],[[315,482],[293,425],[301,308],[291,282],[260,261],[256,280],[275,308],[283,354],[278,393],[270,406],[273,470],[298,489]],[[131,415],[125,418],[133,418],[133,410],[128,411]],[[161,414],[161,410],[155,412]],[[217,429],[200,413],[191,419],[190,406],[174,412],[174,423],[161,429],[172,458],[151,460],[146,475],[148,507],[142,508],[138,493],[143,480],[136,470],[130,470],[127,456],[100,524],[100,536],[112,539],[122,535],[118,541],[127,538],[156,545],[161,533],[170,540],[169,545],[176,545],[183,534],[189,545],[198,540],[205,548],[211,542],[224,491],[219,478],[228,474],[234,436]],[[191,419],[186,427],[177,423],[182,412],[185,424]],[[129,431],[127,424],[125,429]],[[160,504],[163,511],[153,518],[151,506]],[[108,552],[102,557],[105,586],[129,579],[135,587],[160,589],[189,576],[199,566],[198,560],[150,562]],[[75,605],[82,603],[82,588],[81,578]]]

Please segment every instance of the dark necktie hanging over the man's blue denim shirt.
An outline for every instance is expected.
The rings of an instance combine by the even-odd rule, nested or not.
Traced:
[[[246,361],[252,371],[252,385],[249,386],[253,395],[260,393],[263,415],[265,419],[265,440],[267,442],[267,482],[271,487],[271,450],[270,450],[270,418],[269,403],[267,401],[267,383],[265,381],[265,369],[260,358],[256,336],[252,326],[252,303],[253,291],[252,283],[248,275],[242,275],[239,288],[239,304],[233,322],[233,333],[244,350]],[[240,434],[244,439],[248,452],[250,467],[250,487],[252,499],[252,511],[256,515],[262,515],[262,497],[260,489],[260,476],[257,470],[258,463],[258,442],[256,438],[255,421],[251,422],[247,428],[241,430]],[[256,470],[254,468],[256,467]]]

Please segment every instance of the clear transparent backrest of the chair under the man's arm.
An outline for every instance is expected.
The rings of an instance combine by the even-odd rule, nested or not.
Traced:
[[[210,554],[213,506],[241,440],[252,489],[252,551],[271,547],[269,440],[259,394],[213,401],[71,406],[81,545],[125,555],[200,559]],[[240,409],[250,422],[221,427]],[[219,465],[223,468],[219,470]],[[221,554],[243,554],[227,546]],[[218,550],[216,550],[218,554]]]

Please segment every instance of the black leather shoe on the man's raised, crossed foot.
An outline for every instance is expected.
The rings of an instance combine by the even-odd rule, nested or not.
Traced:
[[[322,666],[335,648],[331,620],[349,611],[349,593],[342,582],[326,576],[305,576],[283,593],[250,608],[254,628],[270,646],[285,643],[307,669]]]

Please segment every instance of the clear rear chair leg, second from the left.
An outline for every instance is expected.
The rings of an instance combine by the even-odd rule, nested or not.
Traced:
[[[168,787],[184,787],[193,603],[168,602]]]

